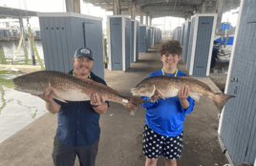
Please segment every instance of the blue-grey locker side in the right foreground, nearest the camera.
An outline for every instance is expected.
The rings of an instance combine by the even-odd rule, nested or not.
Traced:
[[[256,156],[256,20],[252,2],[245,1],[241,14],[227,91],[236,97],[225,105],[221,129],[224,146],[235,165],[243,161],[253,164]]]

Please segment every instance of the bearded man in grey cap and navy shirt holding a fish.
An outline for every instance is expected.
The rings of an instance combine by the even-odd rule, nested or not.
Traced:
[[[75,51],[74,70],[69,72],[80,79],[92,79],[106,85],[105,81],[94,73],[93,52],[88,48]],[[81,166],[94,166],[99,140],[99,114],[105,114],[108,101],[104,96],[94,93],[91,101],[64,103],[53,99],[53,92],[39,95],[46,101],[46,108],[58,115],[58,127],[53,142],[53,163],[55,166],[73,166],[75,156]]]

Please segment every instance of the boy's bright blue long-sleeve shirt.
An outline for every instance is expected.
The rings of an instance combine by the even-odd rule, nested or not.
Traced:
[[[148,77],[162,75],[161,70],[151,73]],[[174,74],[165,73],[165,75],[174,76]],[[177,76],[187,76],[185,73],[178,71]],[[141,98],[148,100],[148,97]],[[156,133],[166,136],[180,135],[183,130],[185,114],[190,114],[195,106],[195,100],[190,96],[187,97],[189,107],[184,110],[181,107],[178,96],[169,98],[159,98],[156,102],[146,102],[142,107],[146,109],[146,124]]]

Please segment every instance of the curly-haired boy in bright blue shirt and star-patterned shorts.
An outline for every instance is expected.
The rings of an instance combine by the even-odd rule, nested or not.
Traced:
[[[151,73],[156,75],[186,76],[178,70],[177,64],[181,59],[181,43],[169,40],[160,46],[162,69]],[[142,151],[146,156],[145,166],[156,166],[158,158],[164,156],[165,166],[177,166],[176,159],[181,156],[183,121],[185,114],[193,111],[195,100],[188,96],[188,87],[182,87],[178,96],[159,98],[151,102],[151,98],[142,98],[149,102],[143,103],[146,109],[146,124],[144,126]],[[160,96],[160,94],[158,93]],[[158,97],[157,97],[158,98]]]

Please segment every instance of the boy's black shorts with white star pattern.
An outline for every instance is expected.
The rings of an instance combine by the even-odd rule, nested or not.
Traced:
[[[142,151],[148,158],[158,158],[161,155],[168,159],[176,159],[181,156],[183,131],[177,136],[160,135],[144,126]]]

